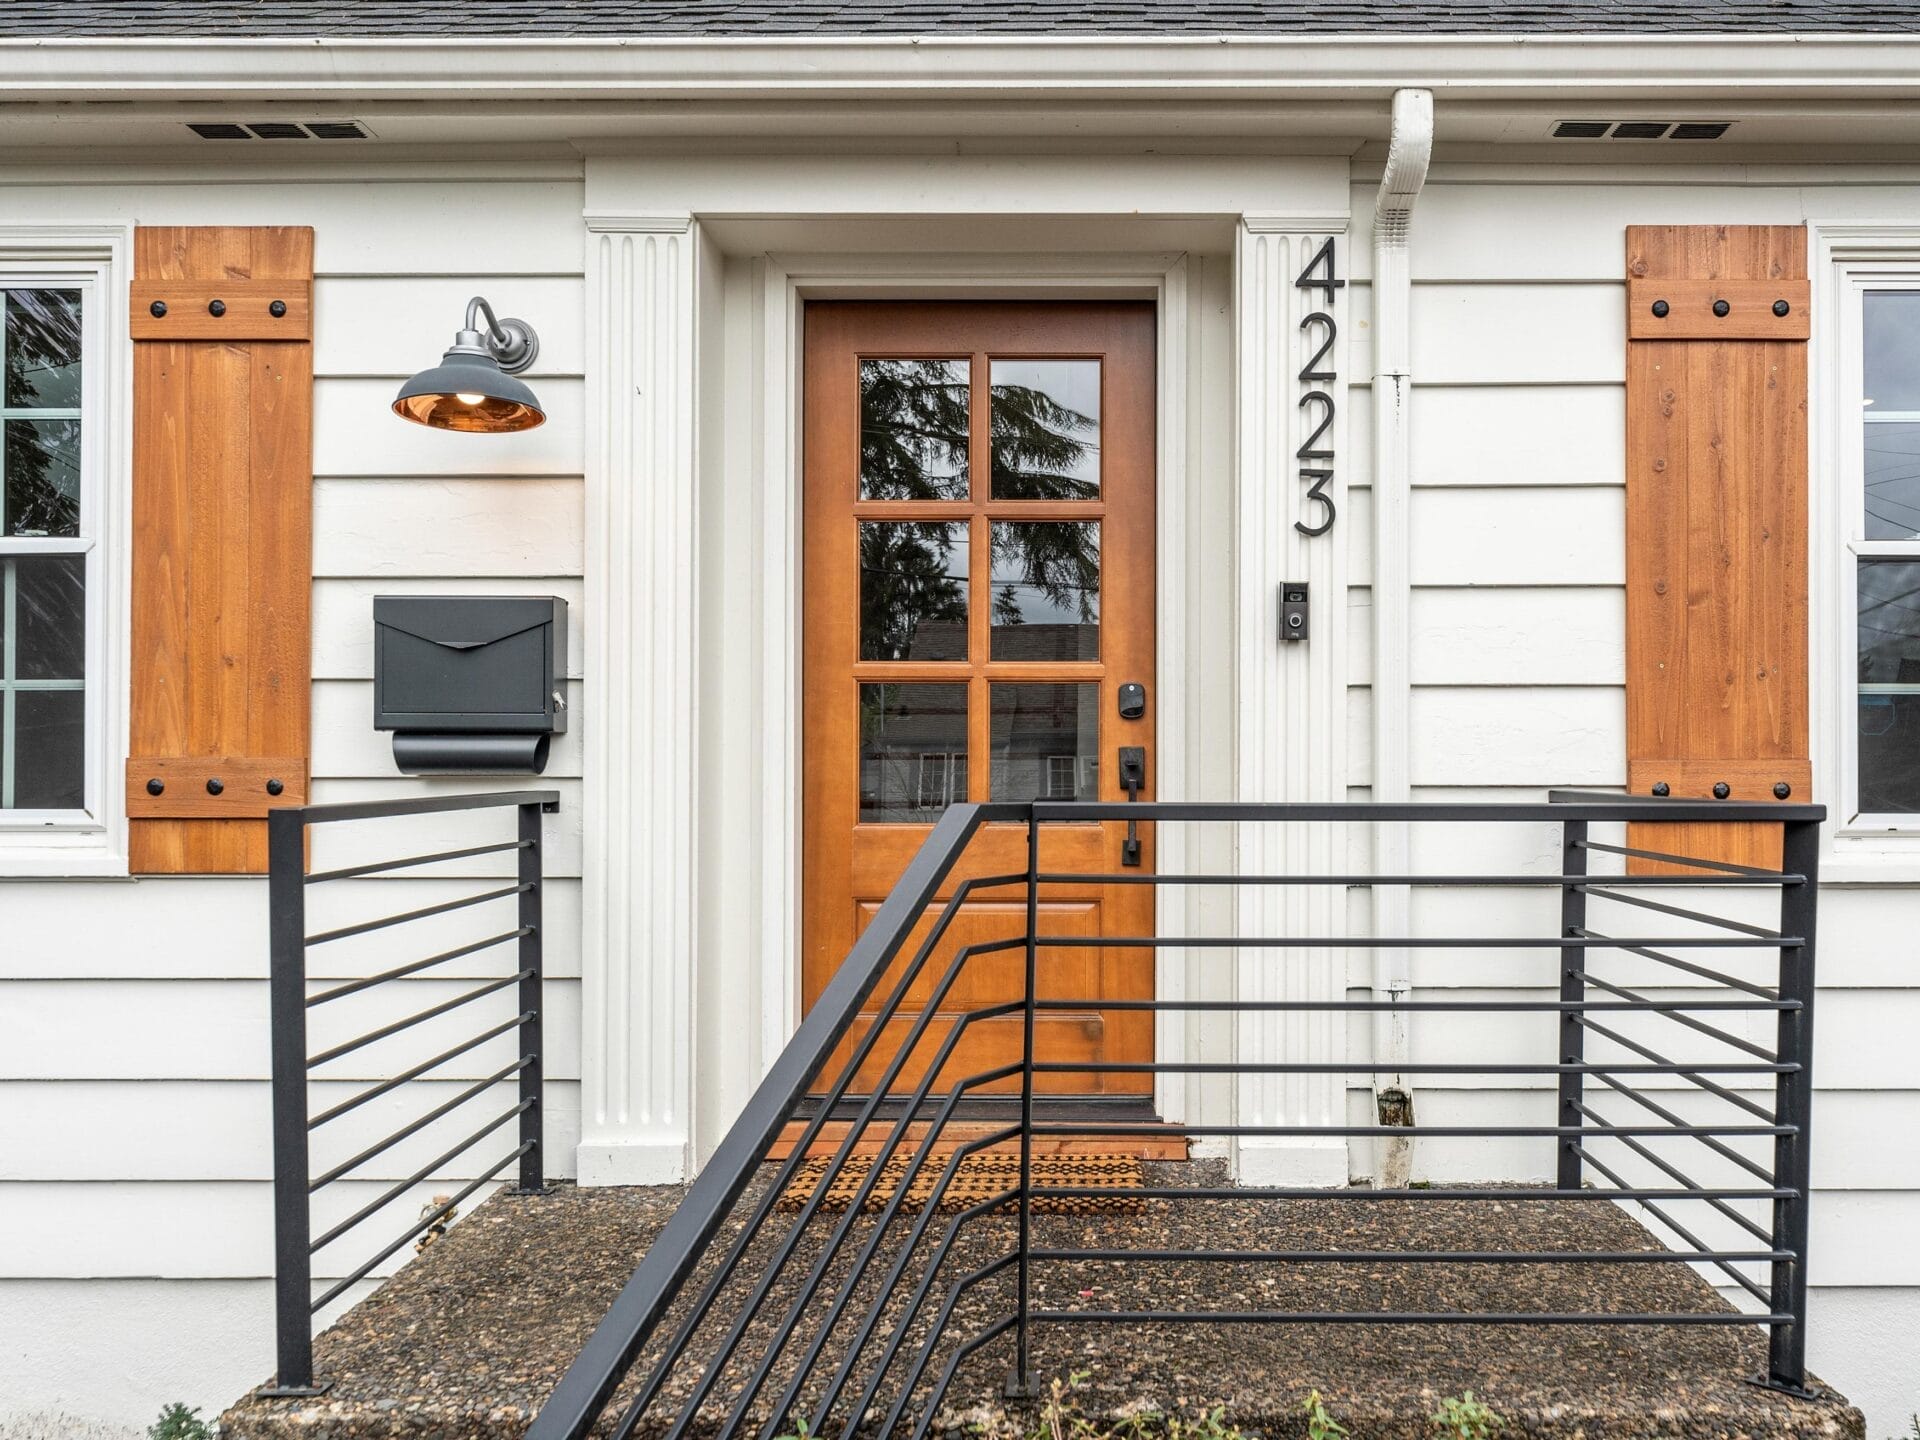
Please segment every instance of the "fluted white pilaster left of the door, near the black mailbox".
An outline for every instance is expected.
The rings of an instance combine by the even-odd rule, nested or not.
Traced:
[[[697,242],[588,219],[582,1185],[691,1162]]]

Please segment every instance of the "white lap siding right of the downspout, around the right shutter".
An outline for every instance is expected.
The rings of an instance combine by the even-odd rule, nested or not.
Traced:
[[[1649,184],[1657,175],[1442,161],[1421,196],[1411,315],[1415,799],[1538,801],[1555,785],[1626,783],[1624,227],[1920,221],[1920,173],[1862,171],[1860,182],[1845,182],[1836,171],[1782,171],[1770,179],[1764,169],[1743,167],[1738,182],[1715,184],[1716,177],[1692,171],[1670,184]],[[1373,184],[1356,184],[1356,317],[1369,305],[1371,207]],[[1363,413],[1367,346],[1356,344],[1352,355],[1361,386],[1356,411]],[[1350,434],[1367,436],[1363,415]],[[1814,484],[1822,474],[1816,465]],[[1361,501],[1352,509],[1350,603],[1359,637],[1371,630],[1371,507]],[[1365,795],[1371,778],[1371,655],[1356,649],[1348,668],[1356,795]],[[1417,858],[1448,870],[1551,872],[1557,841],[1551,829],[1498,841],[1455,835]],[[1601,902],[1594,904],[1597,924]],[[1882,1434],[1903,1428],[1907,1413],[1920,1407],[1912,1365],[1920,1260],[1908,1244],[1920,1227],[1920,1160],[1908,1139],[1920,1129],[1920,1071],[1910,1060],[1920,973],[1908,962],[1920,893],[1828,885],[1820,904],[1812,1365],[1862,1404],[1868,1432]],[[1551,893],[1427,891],[1415,897],[1413,924],[1430,933],[1553,935],[1559,914]],[[1676,987],[1672,972],[1630,956],[1607,958],[1601,968],[1653,995],[1701,995]],[[1369,977],[1365,956],[1356,956],[1356,993]],[[1546,1000],[1557,996],[1557,956],[1421,950],[1413,979],[1415,998]],[[1538,1060],[1553,1050],[1551,1016],[1413,1016],[1411,1023],[1415,1060]],[[1734,1029],[1772,1043],[1763,1016]],[[1371,1027],[1354,1025],[1356,1052],[1369,1043]],[[1680,1052],[1707,1058],[1705,1048],[1711,1043],[1697,1041]],[[1415,1089],[1425,1123],[1553,1123],[1551,1079],[1436,1075],[1417,1077]],[[1663,1104],[1690,1117],[1734,1114],[1678,1081],[1661,1083],[1661,1091]],[[1770,1104],[1770,1091],[1753,1094]],[[1369,1106],[1365,1089],[1356,1087],[1350,1114],[1359,1119]],[[1597,1108],[1620,1119],[1634,1112],[1624,1100]],[[1763,1140],[1740,1148],[1766,1154]],[[1615,1142],[1609,1164],[1622,1154]],[[1726,1164],[1699,1164],[1680,1148],[1670,1158],[1709,1183],[1740,1175]],[[1367,1167],[1367,1152],[1356,1148],[1356,1169]],[[1620,1167],[1655,1177],[1645,1165]],[[1430,1140],[1417,1146],[1413,1173],[1432,1181],[1546,1181],[1553,1148],[1538,1139]],[[1749,1210],[1759,1213],[1757,1206]],[[1701,1233],[1716,1242],[1745,1238],[1728,1225]]]

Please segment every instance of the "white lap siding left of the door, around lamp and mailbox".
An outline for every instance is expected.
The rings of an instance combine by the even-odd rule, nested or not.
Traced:
[[[280,152],[286,154],[286,152]],[[315,230],[313,799],[478,787],[415,781],[372,732],[376,593],[568,599],[574,728],[538,781],[547,818],[545,1164],[568,1175],[580,1133],[582,182],[570,159],[353,167],[0,169],[0,225],[311,225]],[[119,276],[125,282],[129,276]],[[543,428],[461,436],[388,413],[405,374],[451,340],[468,296],[528,319]],[[113,778],[117,783],[117,776]],[[324,833],[315,864],[505,839],[513,812]],[[499,864],[507,862],[507,864]],[[422,876],[311,891],[311,929],[419,908],[509,874],[486,856]],[[497,881],[495,881],[497,883]],[[351,977],[515,925],[511,900],[323,947],[313,973]],[[273,1156],[267,1083],[267,885],[257,877],[0,881],[0,1436],[129,1434],[163,1402],[217,1409],[273,1369]],[[511,973],[513,948],[457,960],[313,1012],[344,1039]],[[497,1012],[497,1014],[495,1014]],[[328,1068],[315,1108],[513,1014],[513,993]],[[315,1135],[315,1169],[355,1154],[511,1064],[511,1039]],[[334,1223],[513,1104],[509,1087],[436,1121],[315,1198]],[[484,1140],[319,1256],[355,1269],[434,1194],[505,1154]],[[468,1202],[470,1208],[476,1202]],[[405,1258],[411,1252],[401,1252]],[[392,1269],[401,1258],[388,1261]],[[102,1367],[100,1356],[113,1356]],[[52,1425],[46,1417],[60,1415]],[[88,1427],[96,1427],[88,1430]]]

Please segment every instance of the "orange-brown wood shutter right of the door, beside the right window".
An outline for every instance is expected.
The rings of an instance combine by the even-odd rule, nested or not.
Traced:
[[[1807,230],[1626,230],[1626,780],[1811,799]],[[1716,309],[1720,313],[1716,313]],[[1640,849],[1778,866],[1778,826],[1636,826]],[[1670,870],[1638,862],[1640,872]]]

